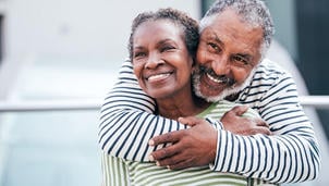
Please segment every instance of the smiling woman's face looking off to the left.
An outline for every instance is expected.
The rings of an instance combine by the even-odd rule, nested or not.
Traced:
[[[141,87],[153,98],[191,94],[193,59],[182,30],[170,21],[149,21],[137,27],[132,62]]]

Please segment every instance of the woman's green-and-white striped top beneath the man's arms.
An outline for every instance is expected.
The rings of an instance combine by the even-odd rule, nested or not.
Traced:
[[[226,100],[212,103],[198,117],[216,117],[220,119],[222,115],[231,110],[236,103]],[[243,113],[243,117],[257,119],[258,113],[248,109]],[[212,123],[212,122],[211,122]],[[221,126],[212,125],[215,128]],[[127,161],[118,157],[101,153],[101,185],[102,186],[127,186],[127,185],[151,185],[151,186],[200,186],[200,185],[216,185],[216,186],[275,186],[277,184],[269,184],[267,182],[249,178],[240,174],[220,173],[209,169],[209,166],[197,166],[184,170],[169,170],[163,166],[157,166],[155,162],[139,162]]]

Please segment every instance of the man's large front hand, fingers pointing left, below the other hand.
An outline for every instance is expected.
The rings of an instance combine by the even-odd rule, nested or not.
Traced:
[[[172,145],[150,154],[160,166],[172,170],[208,165],[215,161],[217,150],[217,131],[208,122],[194,116],[181,117],[179,122],[192,126],[188,129],[167,133],[150,139],[149,145],[164,142]]]

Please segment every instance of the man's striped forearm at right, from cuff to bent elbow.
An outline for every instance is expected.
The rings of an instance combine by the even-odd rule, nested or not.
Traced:
[[[272,183],[313,179],[319,168],[315,141],[294,135],[237,136],[227,131],[218,135],[214,170],[241,173]]]

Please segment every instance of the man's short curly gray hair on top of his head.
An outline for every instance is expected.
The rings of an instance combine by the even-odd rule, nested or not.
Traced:
[[[261,0],[217,0],[200,21],[200,32],[211,23],[216,15],[227,9],[234,10],[241,18],[253,27],[263,28],[260,54],[264,58],[275,34],[273,21],[268,8]]]

